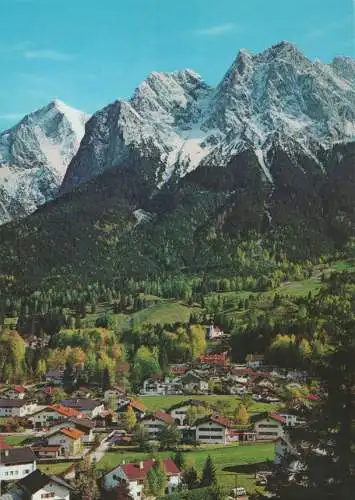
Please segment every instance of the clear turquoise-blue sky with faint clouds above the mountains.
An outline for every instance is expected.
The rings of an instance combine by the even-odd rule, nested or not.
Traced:
[[[355,0],[0,0],[0,130],[53,98],[94,112],[151,71],[216,84],[241,48],[280,40],[354,57]]]

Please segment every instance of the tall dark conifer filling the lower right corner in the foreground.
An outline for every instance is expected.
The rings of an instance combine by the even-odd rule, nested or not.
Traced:
[[[336,296],[332,291],[325,290],[317,304],[328,338],[328,350],[313,359],[312,367],[321,380],[321,398],[307,424],[291,433],[295,452],[285,457],[270,483],[282,500],[350,500],[354,495],[355,304],[345,290]],[[298,467],[290,474],[292,463]]]

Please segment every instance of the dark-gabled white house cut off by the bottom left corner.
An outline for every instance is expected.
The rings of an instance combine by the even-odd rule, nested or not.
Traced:
[[[73,488],[63,479],[56,476],[47,476],[40,470],[35,470],[15,486],[0,500],[70,500]]]

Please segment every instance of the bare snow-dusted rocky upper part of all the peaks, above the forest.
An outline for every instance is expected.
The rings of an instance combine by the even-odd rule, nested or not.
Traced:
[[[321,170],[324,151],[354,137],[354,60],[311,62],[286,42],[257,55],[242,50],[217,87],[191,70],[153,72],[129,101],[90,119],[56,100],[3,132],[0,222],[140,159],[154,162],[145,176],[160,189],[251,149],[272,183],[275,147],[305,155]]]

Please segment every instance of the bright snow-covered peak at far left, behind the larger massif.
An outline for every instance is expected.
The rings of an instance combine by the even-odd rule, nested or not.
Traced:
[[[0,224],[56,196],[88,118],[55,100],[0,134]]]

